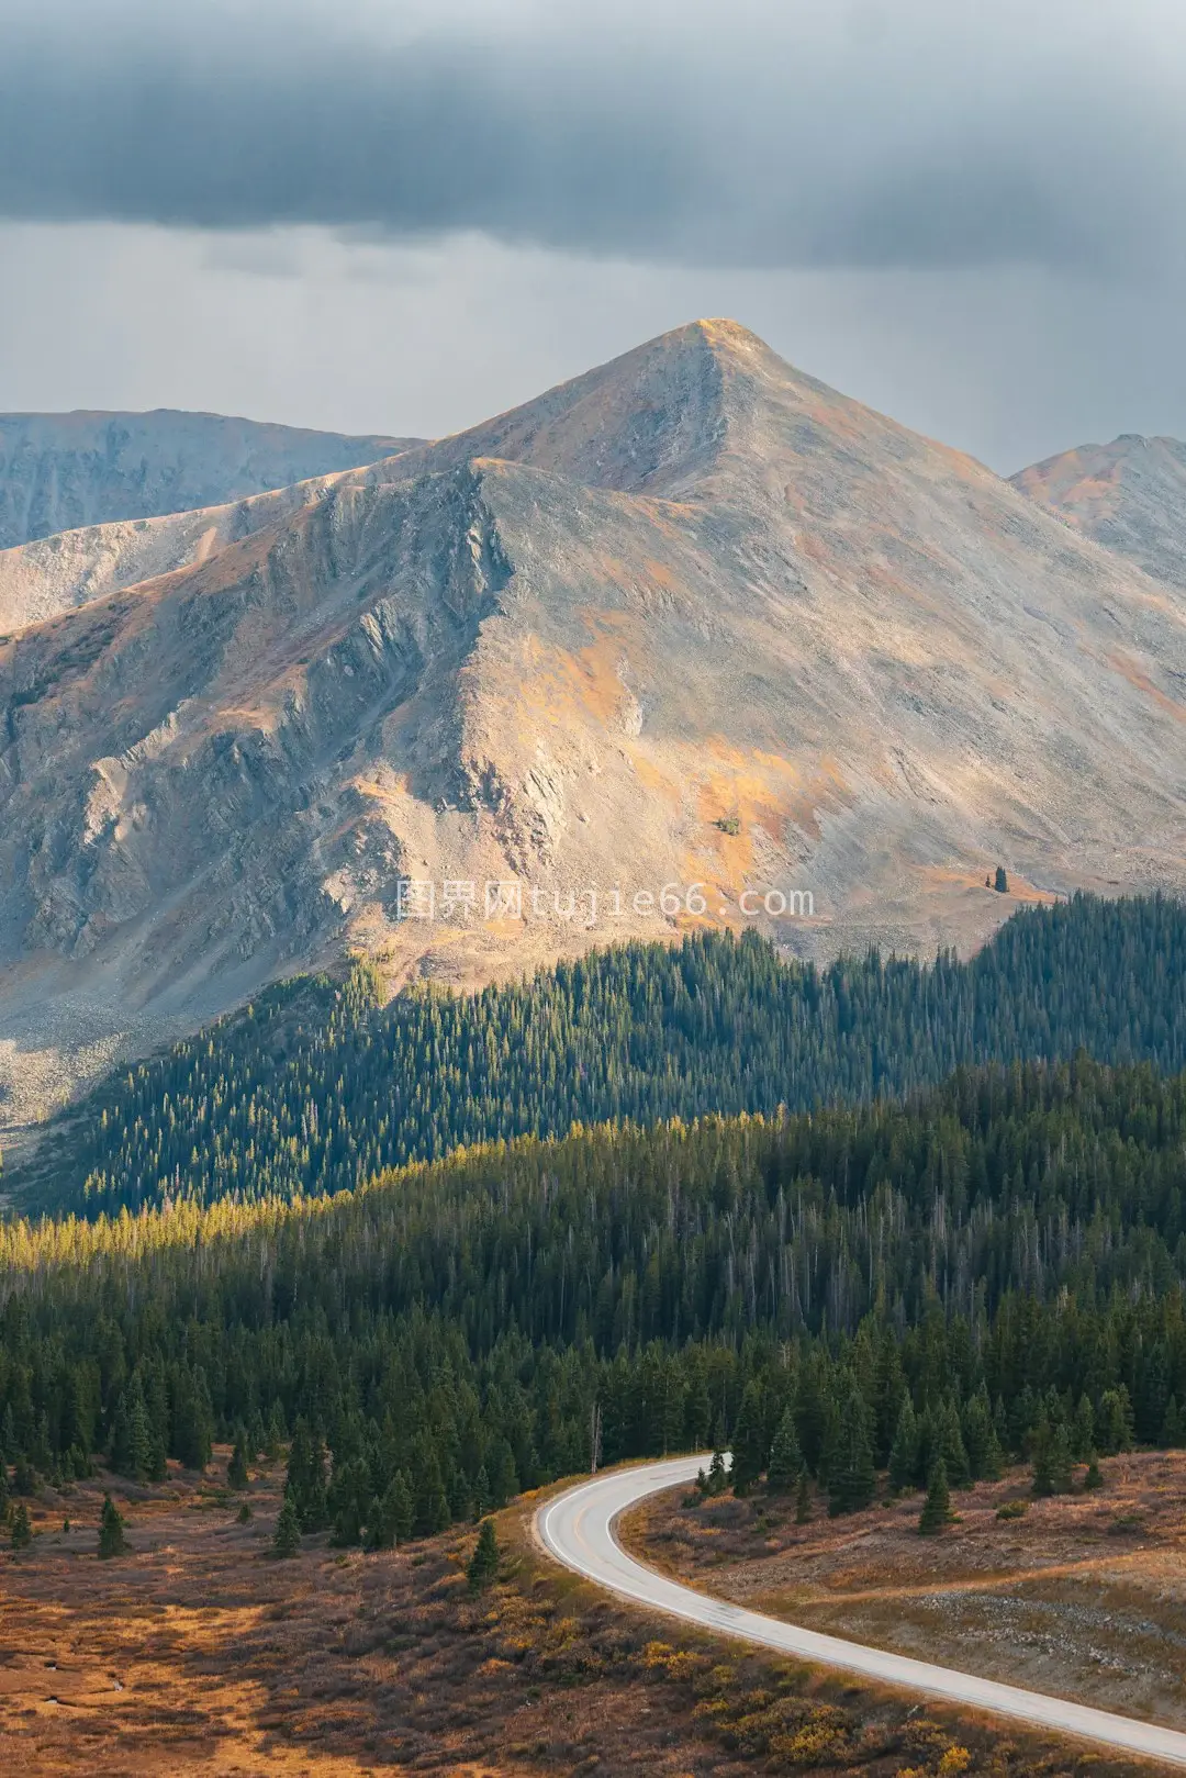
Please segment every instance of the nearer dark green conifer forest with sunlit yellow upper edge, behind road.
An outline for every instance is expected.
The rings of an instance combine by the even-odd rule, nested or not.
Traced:
[[[1186,1442],[1186,1077],[958,1069],[903,1102],[489,1143],[334,1198],[0,1227],[5,1486],[286,1449],[290,1520],[443,1529],[603,1458],[875,1472]],[[9,1469],[11,1467],[11,1469]],[[9,1481],[11,1476],[11,1481]],[[290,1526],[292,1531],[292,1526]]]

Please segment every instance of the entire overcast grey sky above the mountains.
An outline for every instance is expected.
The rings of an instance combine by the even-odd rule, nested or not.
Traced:
[[[1186,436],[1181,0],[0,0],[0,409],[436,434],[695,315]]]

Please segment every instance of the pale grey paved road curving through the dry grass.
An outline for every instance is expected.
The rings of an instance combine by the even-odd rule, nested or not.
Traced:
[[[909,1655],[885,1654],[882,1648],[862,1648],[861,1643],[846,1643],[837,1636],[800,1630],[779,1618],[765,1618],[757,1611],[708,1598],[653,1568],[644,1568],[617,1542],[613,1520],[647,1494],[690,1483],[706,1462],[706,1456],[681,1456],[663,1463],[644,1463],[569,1488],[567,1494],[541,1506],[535,1518],[539,1536],[565,1568],[574,1568],[576,1574],[597,1581],[622,1598],[649,1606],[653,1611],[665,1611],[686,1623],[736,1636],[747,1643],[763,1643],[779,1654],[797,1655],[820,1666],[845,1668],[889,1686],[903,1686],[932,1698],[1058,1730],[1099,1746],[1122,1748],[1165,1766],[1186,1766],[1186,1734],[1174,1728],[1092,1710],[1065,1698],[1047,1698],[1040,1691],[999,1686],[990,1678],[957,1673],[928,1661],[912,1661]]]

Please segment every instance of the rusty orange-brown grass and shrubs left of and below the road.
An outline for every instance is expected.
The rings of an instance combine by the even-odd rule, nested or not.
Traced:
[[[37,1502],[34,1547],[0,1558],[0,1773],[1086,1771],[1056,1746],[629,1613],[539,1554],[530,1499],[501,1515],[503,1572],[477,1600],[471,1529],[370,1556],[308,1540],[276,1561],[279,1472],[256,1474],[240,1526],[224,1467],[226,1451],[201,1485],[117,1488],[132,1547],[108,1563],[100,1483]]]

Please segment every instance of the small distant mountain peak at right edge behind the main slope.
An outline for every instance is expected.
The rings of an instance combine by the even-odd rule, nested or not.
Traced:
[[[1186,590],[1186,444],[1126,432],[1022,469],[1014,487],[1083,537]]]

